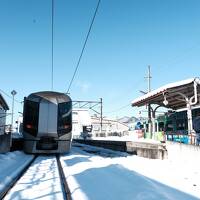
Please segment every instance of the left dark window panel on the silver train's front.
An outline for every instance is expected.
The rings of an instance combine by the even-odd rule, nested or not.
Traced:
[[[24,104],[23,129],[25,132],[37,135],[39,119],[39,104],[34,101],[26,100]]]

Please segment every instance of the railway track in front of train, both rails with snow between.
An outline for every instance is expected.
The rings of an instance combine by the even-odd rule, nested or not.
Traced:
[[[71,200],[59,155],[35,156],[0,193],[4,200],[40,198]]]

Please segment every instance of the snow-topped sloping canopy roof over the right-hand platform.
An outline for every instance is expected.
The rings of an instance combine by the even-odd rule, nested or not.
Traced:
[[[196,87],[194,86],[196,83]],[[175,83],[170,83],[153,90],[131,102],[132,106],[144,106],[147,104],[156,104],[163,107],[178,110],[186,108],[186,100],[194,96],[195,89],[198,95],[197,104],[200,104],[200,79],[191,78]],[[193,99],[194,100],[194,99]]]

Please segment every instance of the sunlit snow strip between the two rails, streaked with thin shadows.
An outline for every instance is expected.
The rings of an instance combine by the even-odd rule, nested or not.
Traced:
[[[11,199],[64,199],[55,156],[39,156],[5,197]]]

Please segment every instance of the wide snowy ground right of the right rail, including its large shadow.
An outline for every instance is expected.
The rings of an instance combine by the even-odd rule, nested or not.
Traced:
[[[96,147],[79,146],[82,149],[72,147],[61,158],[73,199],[200,199],[198,163],[116,156],[116,152],[102,157],[98,151],[94,154]]]

